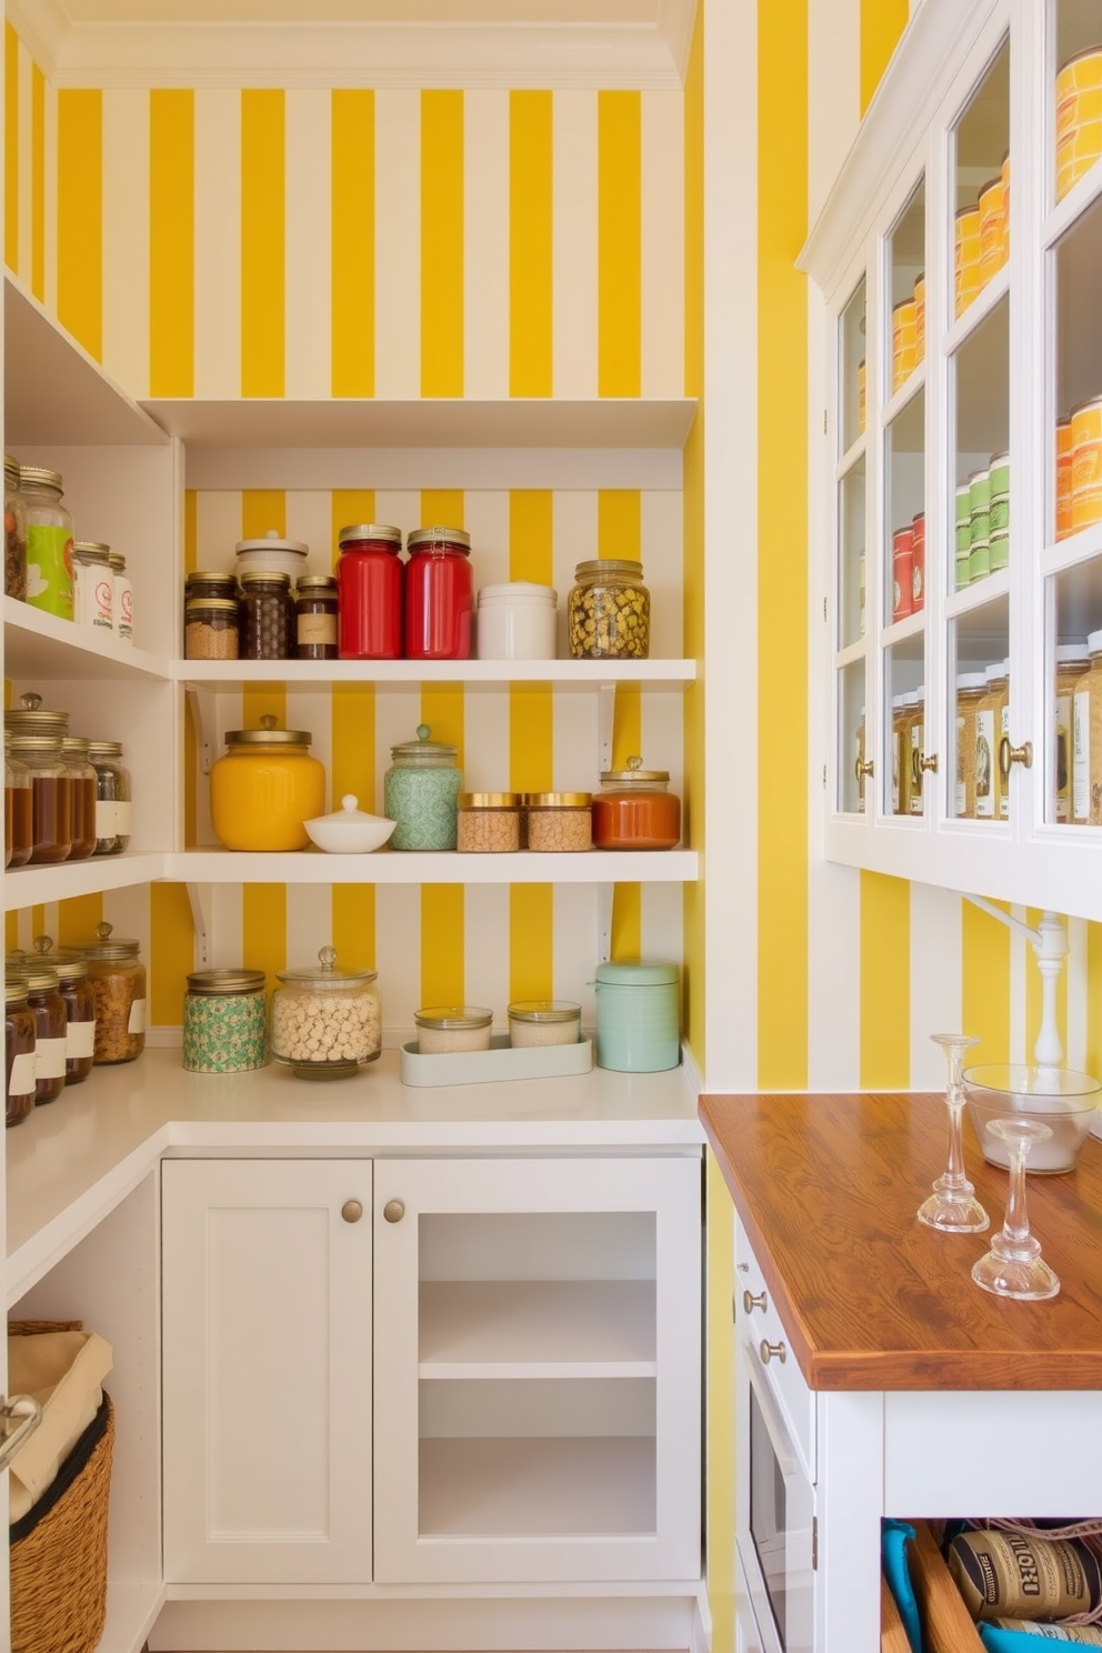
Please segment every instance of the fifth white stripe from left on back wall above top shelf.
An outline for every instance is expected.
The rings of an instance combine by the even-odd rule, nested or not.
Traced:
[[[509,93],[463,99],[464,395],[509,395]]]

